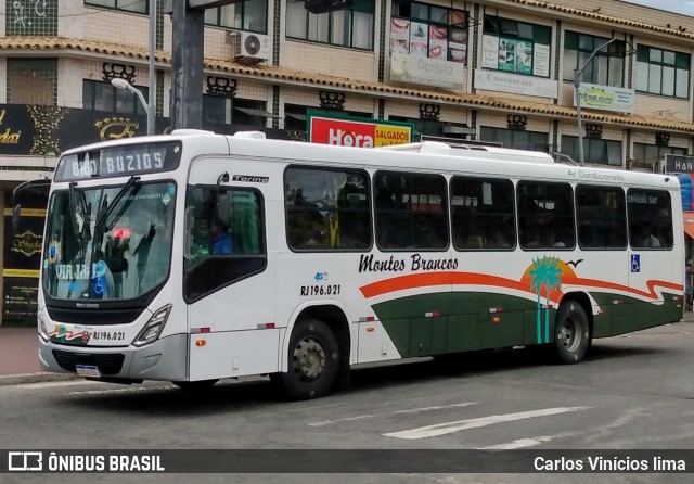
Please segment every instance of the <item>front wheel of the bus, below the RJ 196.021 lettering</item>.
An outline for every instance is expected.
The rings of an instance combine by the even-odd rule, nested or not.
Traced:
[[[288,348],[288,370],[271,380],[281,382],[290,397],[318,398],[333,387],[339,369],[339,346],[333,331],[322,321],[296,323]]]

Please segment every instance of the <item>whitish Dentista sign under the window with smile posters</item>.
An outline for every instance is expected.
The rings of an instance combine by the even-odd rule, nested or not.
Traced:
[[[412,49],[412,46],[411,46]],[[411,50],[412,51],[412,50]],[[463,89],[465,66],[460,62],[401,52],[390,55],[390,80],[446,89]]]

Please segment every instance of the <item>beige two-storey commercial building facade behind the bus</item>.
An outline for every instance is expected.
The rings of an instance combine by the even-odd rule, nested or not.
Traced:
[[[22,319],[42,206],[27,202],[36,224],[12,233],[12,189],[50,177],[68,148],[146,132],[144,107],[113,79],[153,97],[167,132],[172,25],[157,0],[149,86],[149,0],[3,3],[2,301],[4,319]],[[580,132],[584,163],[642,170],[694,149],[691,16],[618,0],[245,0],[205,23],[203,127],[218,132],[306,140],[307,115],[324,113],[576,162]]]

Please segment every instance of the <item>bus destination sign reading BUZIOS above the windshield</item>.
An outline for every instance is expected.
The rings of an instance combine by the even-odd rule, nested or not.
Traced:
[[[181,143],[178,141],[83,151],[60,160],[55,168],[55,181],[171,171],[178,168],[180,160]]]

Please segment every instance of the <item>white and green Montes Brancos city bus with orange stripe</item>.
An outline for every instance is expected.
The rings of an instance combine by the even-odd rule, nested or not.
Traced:
[[[425,141],[391,149],[180,130],[65,152],[38,294],[47,371],[181,387],[269,374],[294,398],[360,364],[679,321],[665,175]]]

